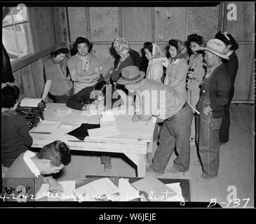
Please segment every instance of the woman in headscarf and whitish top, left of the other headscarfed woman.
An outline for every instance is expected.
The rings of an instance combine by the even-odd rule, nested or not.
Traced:
[[[161,83],[161,77],[163,76],[163,65],[166,66],[166,64],[168,64],[168,59],[163,53],[163,50],[159,47],[159,45],[156,45],[156,43],[145,42],[143,46],[145,55],[149,60],[146,78],[156,80]]]

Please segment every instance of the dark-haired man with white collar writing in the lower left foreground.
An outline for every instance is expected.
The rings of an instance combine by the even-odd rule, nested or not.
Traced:
[[[70,161],[71,152],[63,141],[53,141],[43,146],[39,153],[25,151],[8,169],[5,185],[12,188],[24,186],[29,197],[35,197],[43,183],[48,183],[50,192],[64,193],[61,184],[51,174],[60,172]],[[34,186],[31,185],[32,181]]]

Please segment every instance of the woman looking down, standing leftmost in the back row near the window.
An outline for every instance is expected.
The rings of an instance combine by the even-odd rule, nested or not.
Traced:
[[[66,103],[72,95],[73,83],[67,76],[67,53],[69,49],[58,45],[50,53],[50,59],[44,66],[46,73],[46,84],[43,88],[43,96],[50,92],[55,103]]]

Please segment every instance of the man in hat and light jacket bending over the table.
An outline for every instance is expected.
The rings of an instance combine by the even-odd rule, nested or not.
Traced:
[[[136,93],[133,121],[147,121],[152,116],[163,122],[159,147],[147,172],[163,174],[176,146],[179,155],[168,172],[186,172],[189,169],[191,120],[193,111],[184,98],[172,87],[144,78],[137,66],[127,66],[117,81],[129,92]]]

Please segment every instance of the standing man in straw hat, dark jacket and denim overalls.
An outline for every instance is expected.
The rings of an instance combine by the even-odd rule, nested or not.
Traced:
[[[219,39],[208,41],[204,50],[207,65],[206,76],[201,85],[201,96],[196,105],[200,111],[197,122],[197,143],[203,174],[198,181],[210,181],[218,175],[220,163],[219,130],[224,116],[224,106],[229,100],[231,80],[222,64],[225,44]]]

